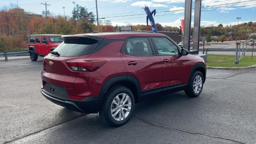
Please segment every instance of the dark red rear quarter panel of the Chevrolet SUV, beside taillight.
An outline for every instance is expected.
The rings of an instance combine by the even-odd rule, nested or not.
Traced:
[[[95,72],[77,72],[74,87],[87,87],[88,90],[90,90],[90,92],[88,91],[84,94],[82,94],[81,91],[81,95],[98,96],[106,80],[112,76],[126,73],[124,63],[120,56],[123,43],[124,41],[111,42],[98,52],[86,58],[86,60],[106,60],[107,62]],[[84,84],[86,84],[86,86]]]

